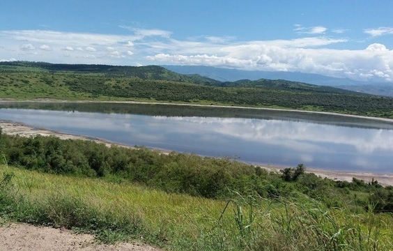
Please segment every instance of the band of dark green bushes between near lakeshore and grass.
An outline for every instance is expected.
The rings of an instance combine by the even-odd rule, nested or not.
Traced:
[[[162,154],[146,148],[127,149],[88,140],[57,137],[1,135],[0,151],[8,164],[25,169],[91,178],[116,183],[132,182],[164,192],[210,199],[231,199],[232,192],[266,199],[291,197],[300,192],[327,206],[393,211],[393,187],[378,181],[332,181],[306,174],[305,167],[280,174],[229,158],[208,158],[187,153]],[[356,196],[356,197],[355,197]]]

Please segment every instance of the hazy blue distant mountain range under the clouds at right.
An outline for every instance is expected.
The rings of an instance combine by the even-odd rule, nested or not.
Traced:
[[[348,78],[327,77],[313,73],[268,72],[258,70],[236,70],[215,68],[212,66],[162,66],[168,70],[184,75],[199,74],[203,77],[221,82],[236,82],[242,79],[284,79],[321,86],[334,86],[350,91],[369,93],[380,96],[393,96],[393,83],[360,82]]]

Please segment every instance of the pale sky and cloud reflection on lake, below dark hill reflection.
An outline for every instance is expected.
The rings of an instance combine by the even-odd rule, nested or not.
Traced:
[[[393,130],[305,121],[1,109],[1,119],[130,145],[247,162],[392,172]],[[372,166],[371,166],[372,165]]]

